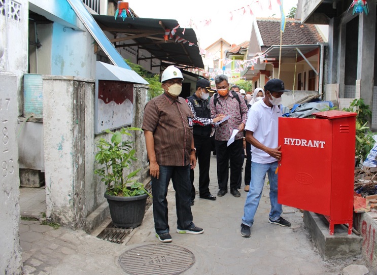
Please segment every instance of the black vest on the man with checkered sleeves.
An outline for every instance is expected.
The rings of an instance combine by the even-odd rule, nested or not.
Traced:
[[[195,113],[197,117],[200,118],[211,118],[211,110],[209,108],[209,101],[203,100],[201,98],[198,98],[196,94],[187,97],[187,100],[189,100],[194,107]],[[212,125],[195,125],[194,124],[194,135],[200,135],[200,136],[210,136],[212,130]]]

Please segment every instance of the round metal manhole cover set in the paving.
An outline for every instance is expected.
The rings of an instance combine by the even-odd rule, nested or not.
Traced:
[[[133,275],[181,274],[195,262],[191,251],[175,245],[145,245],[124,252],[120,266]]]

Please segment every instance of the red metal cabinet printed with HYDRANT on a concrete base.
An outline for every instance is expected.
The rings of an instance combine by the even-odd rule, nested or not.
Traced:
[[[278,202],[348,224],[352,233],[356,113],[279,118]]]

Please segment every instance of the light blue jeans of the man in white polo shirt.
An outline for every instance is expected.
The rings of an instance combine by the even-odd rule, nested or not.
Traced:
[[[282,214],[282,204],[278,203],[278,174],[275,174],[277,167],[278,161],[266,164],[251,162],[250,190],[245,201],[244,217],[242,217],[243,224],[251,227],[254,223],[254,216],[255,212],[257,212],[260,197],[262,196],[266,173],[268,175],[269,199],[271,202],[269,218],[272,221],[280,218]]]

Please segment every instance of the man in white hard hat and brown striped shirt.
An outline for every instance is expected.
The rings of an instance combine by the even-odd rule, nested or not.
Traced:
[[[153,218],[156,237],[172,242],[167,220],[167,187],[176,191],[177,233],[201,234],[192,222],[190,168],[195,168],[193,115],[185,99],[179,97],[183,76],[179,68],[168,66],[161,76],[164,93],[145,106],[143,130],[152,177]]]

